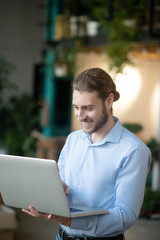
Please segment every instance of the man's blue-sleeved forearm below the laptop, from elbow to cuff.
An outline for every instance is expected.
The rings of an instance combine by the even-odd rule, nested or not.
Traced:
[[[91,236],[109,236],[123,233],[131,227],[137,217],[124,209],[115,207],[108,214],[72,219],[71,229],[81,230]]]

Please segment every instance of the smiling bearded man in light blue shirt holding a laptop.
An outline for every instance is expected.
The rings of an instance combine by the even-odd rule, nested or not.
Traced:
[[[71,202],[107,209],[98,216],[68,219],[26,213],[61,224],[57,239],[124,239],[138,219],[151,155],[147,146],[112,115],[119,93],[111,77],[91,68],[73,81],[73,108],[82,129],[71,133],[58,166]]]

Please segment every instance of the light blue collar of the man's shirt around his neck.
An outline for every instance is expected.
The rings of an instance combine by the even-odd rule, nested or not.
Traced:
[[[114,117],[114,119],[116,121],[116,124],[109,131],[109,133],[105,136],[105,138],[103,138],[101,141],[98,141],[98,142],[92,144],[90,134],[87,134],[84,131],[82,132],[82,139],[87,141],[92,146],[102,145],[106,142],[119,143],[121,135],[122,135],[123,127],[117,117]]]

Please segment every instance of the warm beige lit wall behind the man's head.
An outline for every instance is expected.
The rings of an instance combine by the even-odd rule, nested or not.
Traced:
[[[157,137],[160,110],[160,60],[134,59],[135,66],[127,66],[124,74],[115,78],[120,99],[114,103],[113,112],[121,123],[139,123],[143,130],[142,140]],[[76,74],[90,67],[101,67],[108,71],[108,60],[104,54],[80,53],[77,57]],[[72,113],[73,114],[73,113]],[[72,128],[77,130],[81,124],[72,115]]]

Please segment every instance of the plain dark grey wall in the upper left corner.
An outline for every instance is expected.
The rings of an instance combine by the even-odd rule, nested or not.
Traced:
[[[9,75],[20,91],[33,88],[33,67],[43,47],[44,0],[0,1],[0,46],[7,47],[6,59],[15,65]]]

